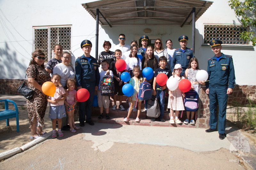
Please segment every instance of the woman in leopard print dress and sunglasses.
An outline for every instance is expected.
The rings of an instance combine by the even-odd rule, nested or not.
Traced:
[[[46,81],[51,81],[51,77],[44,69],[44,57],[44,52],[41,49],[36,49],[32,53],[32,59],[26,70],[29,82],[28,86],[35,92],[33,98],[27,100],[31,138],[37,138],[46,133],[42,130],[44,127],[44,115],[47,107],[47,100],[42,91],[42,85]]]

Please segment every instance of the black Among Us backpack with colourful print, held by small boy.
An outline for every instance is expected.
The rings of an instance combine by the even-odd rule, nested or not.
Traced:
[[[114,79],[110,75],[105,75],[100,81],[100,94],[102,96],[113,96],[115,92]]]

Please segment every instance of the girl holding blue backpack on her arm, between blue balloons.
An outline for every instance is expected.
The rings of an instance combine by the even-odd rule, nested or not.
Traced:
[[[139,92],[139,88],[140,88],[140,84],[143,82],[143,78],[142,75],[140,73],[140,67],[139,66],[135,66],[133,67],[133,75],[134,77],[130,79],[130,84],[133,86],[134,90],[133,90],[133,94],[130,97],[129,100],[132,100],[131,106],[129,108],[128,111],[128,115],[127,117],[124,119],[124,122],[129,122],[129,117],[132,113],[132,107],[134,106],[136,100],[137,100],[137,94]],[[144,81],[146,81],[146,78],[144,78]],[[139,116],[140,116],[140,109],[141,109],[141,101],[140,99],[138,99],[138,114],[137,114],[137,118],[136,118],[136,122],[140,122]]]

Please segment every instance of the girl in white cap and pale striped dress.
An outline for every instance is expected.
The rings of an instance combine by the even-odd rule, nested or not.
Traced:
[[[181,76],[182,67],[180,64],[176,64],[173,69],[173,77],[176,78],[179,82],[180,80],[184,79]],[[174,124],[173,120],[173,113],[175,110],[175,123],[180,124],[181,121],[179,120],[179,112],[180,110],[185,110],[183,98],[184,93],[180,91],[179,87],[174,91],[169,91],[169,100],[168,100],[168,108],[170,108],[171,120],[170,123]]]

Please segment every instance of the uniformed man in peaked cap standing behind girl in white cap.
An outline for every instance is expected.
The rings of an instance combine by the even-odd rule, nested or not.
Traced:
[[[188,68],[190,59],[195,57],[195,55],[192,48],[187,48],[188,36],[181,35],[179,37],[179,42],[180,48],[174,51],[171,61],[171,70],[174,69],[175,64],[180,64],[182,67],[181,75],[184,76],[185,70]]]

